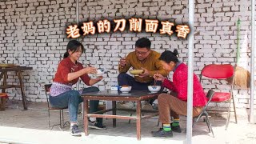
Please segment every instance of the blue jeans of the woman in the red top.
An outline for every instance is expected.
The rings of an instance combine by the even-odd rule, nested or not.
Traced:
[[[82,93],[89,93],[99,91],[98,87],[91,86],[88,88],[84,88]],[[83,102],[81,95],[78,90],[70,90],[65,93],[59,94],[58,96],[49,98],[51,106],[54,107],[68,107],[70,114],[70,122],[78,121],[78,105]],[[90,101],[90,113],[98,111],[98,101]],[[102,118],[97,118],[97,122],[102,124]]]

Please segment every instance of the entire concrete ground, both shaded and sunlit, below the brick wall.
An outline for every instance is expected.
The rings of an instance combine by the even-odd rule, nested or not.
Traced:
[[[174,138],[154,138],[151,130],[158,130],[158,118],[142,120],[142,140],[136,138],[136,122],[117,120],[117,127],[112,127],[111,119],[104,119],[107,130],[89,130],[90,135],[73,137],[67,126],[63,131],[55,126],[48,127],[47,106],[44,102],[29,102],[29,110],[22,110],[21,102],[9,102],[5,111],[0,111],[0,143],[186,143],[186,117],[181,118],[182,133],[174,133]],[[193,129],[193,143],[256,143],[256,125],[248,123],[248,113],[245,109],[238,109],[238,124],[234,123],[231,115],[230,126],[225,130],[226,115],[214,114],[212,123],[215,138],[208,133],[206,122],[198,122]],[[125,112],[119,114],[128,114]],[[68,113],[65,113],[66,119]],[[57,122],[58,113],[51,114],[52,123]],[[256,117],[254,117],[256,120]],[[82,114],[78,115],[80,130],[83,128]],[[82,130],[83,131],[83,130]]]

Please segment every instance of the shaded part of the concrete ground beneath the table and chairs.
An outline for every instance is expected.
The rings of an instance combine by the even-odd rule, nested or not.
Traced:
[[[29,110],[22,109],[22,102],[9,101],[7,106],[9,106],[5,111],[0,112],[0,125],[1,126],[12,126],[28,129],[37,130],[49,130],[48,126],[48,111],[46,102],[28,102]],[[118,114],[129,115],[130,113],[118,111]],[[68,120],[68,113],[65,112],[65,118]],[[58,112],[54,111],[50,113],[50,124],[58,122]],[[80,130],[83,128],[82,114],[78,114],[78,122]],[[223,117],[212,117],[210,122],[213,127],[223,126],[226,124],[226,119]],[[182,133],[174,133],[173,140],[185,140],[186,139],[186,117],[181,117],[181,127]],[[151,131],[158,130],[158,117],[144,119],[142,120],[141,134],[142,138],[153,138],[151,136]],[[89,130],[90,134],[96,135],[111,135],[111,136],[125,136],[136,138],[136,121],[131,121],[130,124],[128,120],[117,120],[117,126],[113,128],[112,119],[104,119],[104,125],[107,126],[107,130]],[[53,130],[59,130],[58,126],[54,126]],[[66,126],[64,131],[69,130],[69,126]],[[83,130],[82,130],[83,131]],[[206,122],[199,120],[194,126],[193,135],[206,135],[212,136],[208,132],[208,127]]]

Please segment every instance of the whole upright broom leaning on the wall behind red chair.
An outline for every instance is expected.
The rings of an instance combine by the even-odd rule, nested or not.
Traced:
[[[232,79],[234,81],[234,86],[239,86],[241,88],[249,88],[250,87],[250,72],[245,70],[241,66],[238,66],[239,58],[240,58],[240,18],[238,18],[238,39],[237,39],[237,62],[234,66],[234,76],[231,78],[227,78],[229,83],[232,83]]]

